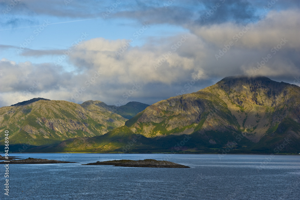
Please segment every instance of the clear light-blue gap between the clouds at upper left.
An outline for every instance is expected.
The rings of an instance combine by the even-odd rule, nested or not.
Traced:
[[[40,28],[42,27],[40,25],[43,25],[44,20],[49,22],[49,25],[46,25],[44,28]],[[56,17],[47,17],[44,18],[44,20],[37,22],[38,25],[24,24],[23,26],[20,25],[20,27],[12,25],[11,28],[3,28],[1,30],[1,44],[16,46],[17,48],[11,48],[9,51],[3,52],[2,56],[16,62],[53,62],[58,56],[44,56],[41,58],[34,56],[24,57],[20,56],[20,53],[18,53],[16,49],[20,49],[24,43],[28,43],[26,41],[30,42],[28,43],[28,46],[26,46],[26,48],[29,49],[67,49],[71,46],[74,40],[77,40],[80,37],[82,33],[88,34],[88,37],[85,40],[98,37],[109,40],[133,38],[134,42],[131,43],[131,46],[143,46],[149,37],[159,38],[162,35],[164,37],[168,37],[174,35],[174,33],[187,31],[181,26],[159,24],[153,25],[153,27],[145,30],[143,34],[138,35],[135,33],[140,30],[142,25],[132,19],[104,19],[103,17],[100,17],[96,19],[91,18],[76,20],[66,18],[64,21],[57,19]],[[139,37],[136,38],[136,35]],[[30,39],[31,36],[34,37],[34,40]],[[7,38],[7,40],[4,40],[4,38]],[[67,62],[64,62],[63,65],[69,66]]]

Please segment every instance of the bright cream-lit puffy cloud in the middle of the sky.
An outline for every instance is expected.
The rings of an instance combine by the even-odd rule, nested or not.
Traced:
[[[184,41],[182,43],[181,38],[181,35],[174,37],[173,41],[164,46],[129,46],[128,48],[125,46],[128,40],[95,38],[80,44],[70,55],[70,61],[78,67],[82,67],[84,63],[89,70],[101,71],[108,82],[171,84],[186,78],[185,74],[195,69],[194,59],[185,56],[185,52],[181,49],[187,49],[192,43],[188,41],[189,38],[186,41],[182,40]],[[173,46],[177,42],[180,42],[178,48]],[[126,47],[125,50],[123,49],[124,52],[120,51],[123,46]],[[168,52],[171,52],[171,55],[168,55]],[[158,67],[155,68],[154,65]]]

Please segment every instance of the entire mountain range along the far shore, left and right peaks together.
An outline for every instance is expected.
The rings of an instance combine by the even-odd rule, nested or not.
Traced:
[[[34,108],[34,104],[38,102],[44,103],[43,111],[42,109],[29,109],[29,107]],[[17,107],[18,112],[23,113],[22,115],[10,114],[9,112],[13,111],[12,107],[0,108],[1,124],[6,123],[8,126],[12,124],[12,121],[13,124],[21,122],[24,124],[26,121],[24,115],[34,115],[37,118],[33,118],[31,121],[36,122],[35,124],[39,124],[38,121],[41,123],[41,127],[36,127],[36,130],[49,132],[55,129],[48,127],[49,123],[46,120],[51,117],[52,120],[58,119],[59,113],[62,115],[64,112],[68,112],[72,113],[72,116],[76,116],[76,119],[72,119],[74,121],[79,121],[83,116],[86,121],[93,120],[93,122],[89,122],[89,126],[85,127],[88,127],[88,130],[94,135],[88,134],[87,129],[80,129],[81,135],[70,129],[73,131],[73,135],[67,135],[69,139],[64,137],[63,139],[66,140],[57,144],[59,136],[55,136],[54,145],[28,149],[32,152],[223,154],[300,152],[300,87],[284,82],[275,82],[266,77],[226,77],[215,85],[198,92],[171,97],[151,106],[138,102],[128,103],[124,107],[107,106],[101,101],[87,101],[81,105],[67,102],[70,105],[61,105],[61,109],[56,109],[57,112],[54,112],[52,108],[59,107],[59,103],[64,101],[40,100],[38,102],[26,105],[29,106],[28,108]],[[47,107],[47,105],[49,106]],[[86,114],[79,115],[78,111],[71,112],[73,109],[70,109],[70,106],[79,110],[76,105],[81,107]],[[46,107],[47,109],[45,109]],[[65,109],[70,110],[62,111]],[[26,112],[27,114],[24,114]],[[56,113],[56,115],[44,116],[46,123],[42,123],[40,121],[41,114],[38,115],[41,112]],[[109,113],[110,116],[104,113]],[[105,120],[99,118],[100,115],[107,118]],[[126,120],[124,118],[126,116],[127,119],[131,116],[134,117]],[[113,124],[108,123],[111,119]],[[57,126],[62,124],[60,121],[56,122]],[[66,122],[64,121],[64,123]],[[102,125],[101,128],[97,127],[97,123]],[[25,128],[27,124],[24,125]],[[34,126],[31,125],[31,127]],[[82,125],[82,127],[84,126]],[[4,129],[1,128],[1,130]],[[103,134],[105,131],[109,132]],[[33,132],[30,133],[28,130],[25,135],[32,138],[35,136],[36,140],[41,139],[42,141],[44,139],[41,136],[48,136],[44,133],[44,135],[36,136]],[[15,141],[18,136],[24,135],[21,132],[15,134],[17,134]],[[62,138],[63,134],[59,135]],[[24,137],[21,138],[24,139]],[[23,139],[22,141],[24,141]]]

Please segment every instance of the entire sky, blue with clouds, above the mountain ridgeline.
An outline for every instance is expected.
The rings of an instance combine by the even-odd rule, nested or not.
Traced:
[[[0,0],[0,107],[122,106],[226,76],[300,86],[298,0]]]

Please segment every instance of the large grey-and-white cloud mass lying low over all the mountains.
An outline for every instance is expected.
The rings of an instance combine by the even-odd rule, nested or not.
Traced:
[[[64,60],[74,66],[74,72],[65,72],[63,67],[55,67],[53,63],[16,63],[3,58],[0,61],[0,95],[3,101],[0,106],[16,103],[15,99],[33,97],[70,101],[76,94],[75,102],[92,99],[113,104],[125,100],[123,94],[133,84],[140,85],[140,88],[125,101],[140,99],[144,103],[155,103],[147,100],[175,96],[194,76],[200,78],[193,86],[194,91],[201,89],[200,86],[208,86],[211,79],[243,73],[278,79],[291,77],[292,83],[293,77],[300,75],[299,23],[298,10],[271,11],[264,19],[249,24],[250,29],[219,60],[216,60],[215,54],[243,30],[243,25],[226,22],[191,26],[191,33],[164,38],[161,43],[146,42],[144,46],[128,46],[129,40],[125,39],[94,38],[82,42]],[[182,39],[184,35],[186,40]],[[288,42],[275,55],[272,54],[263,67],[253,70],[257,62],[271,54],[271,48],[282,38]],[[120,48],[124,52],[117,55]],[[172,55],[167,55],[169,51]],[[27,53],[30,55],[31,52]],[[53,55],[57,51],[43,50],[39,53],[35,50],[32,53],[42,56]],[[154,65],[160,66],[155,69]],[[95,78],[96,72],[101,76]],[[34,81],[40,82],[38,87],[24,94]],[[82,87],[84,91],[81,92]]]

